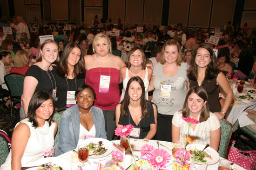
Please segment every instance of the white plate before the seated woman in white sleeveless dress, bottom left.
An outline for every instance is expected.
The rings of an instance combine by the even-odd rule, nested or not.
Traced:
[[[63,159],[61,157],[46,157],[43,159],[39,159],[37,161],[34,161],[30,164],[27,164],[27,166],[36,166],[41,164],[46,164],[48,162],[51,162],[52,165],[56,164],[57,166],[61,166],[64,170],[71,170],[71,164],[66,159]],[[27,170],[36,170],[39,167],[29,168]]]

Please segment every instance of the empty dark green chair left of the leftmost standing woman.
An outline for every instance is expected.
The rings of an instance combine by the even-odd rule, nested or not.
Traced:
[[[13,102],[15,101],[20,102],[20,97],[23,93],[24,78],[25,76],[19,73],[9,73],[4,77],[6,85],[11,94],[11,101],[12,101],[10,123],[12,123]]]

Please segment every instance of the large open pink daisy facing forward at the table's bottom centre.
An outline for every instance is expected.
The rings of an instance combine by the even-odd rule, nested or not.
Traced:
[[[154,149],[148,154],[148,163],[153,165],[157,170],[166,168],[171,155],[163,149]]]

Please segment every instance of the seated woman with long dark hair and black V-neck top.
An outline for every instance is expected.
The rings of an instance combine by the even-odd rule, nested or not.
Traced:
[[[155,104],[145,99],[142,79],[139,76],[130,78],[123,101],[115,107],[116,127],[132,124],[139,133],[136,135],[132,132],[131,138],[152,139],[156,133],[156,115]]]

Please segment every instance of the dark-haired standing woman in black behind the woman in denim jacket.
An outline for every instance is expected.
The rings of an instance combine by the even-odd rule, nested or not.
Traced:
[[[76,43],[69,43],[65,47],[60,64],[53,67],[57,83],[56,108],[71,107],[76,104],[75,90],[84,84],[84,58],[81,48]]]

